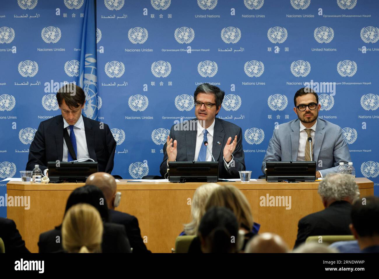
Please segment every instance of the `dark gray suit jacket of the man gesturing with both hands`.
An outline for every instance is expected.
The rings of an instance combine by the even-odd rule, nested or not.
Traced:
[[[194,118],[193,120],[196,120]],[[197,125],[197,122],[196,122]],[[176,156],[176,161],[193,161],[195,158],[195,149],[196,149],[196,136],[197,136],[197,127],[195,125],[195,129],[193,131],[175,131],[173,125],[170,131],[170,139],[177,140],[177,151],[178,154]],[[185,126],[185,121],[183,122],[183,126]],[[236,149],[233,152],[233,158],[235,161],[235,166],[230,166],[229,170],[227,170],[224,166],[224,154],[223,150],[226,145],[226,142],[229,137],[237,136],[237,145]],[[220,142],[221,144],[217,144]],[[164,177],[164,174],[167,172],[167,153],[166,153],[167,143],[164,144],[163,147],[163,162],[160,166],[160,173]],[[215,129],[213,135],[213,143],[212,143],[212,155],[218,164],[218,173],[220,178],[240,178],[240,174],[238,171],[245,170],[245,155],[242,149],[242,130],[237,125],[224,121],[220,118],[215,119]]]

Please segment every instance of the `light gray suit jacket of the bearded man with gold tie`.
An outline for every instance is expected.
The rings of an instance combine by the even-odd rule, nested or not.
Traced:
[[[265,172],[267,161],[296,161],[299,150],[299,119],[280,124],[274,129],[273,137],[268,143],[262,172]],[[330,172],[337,172],[340,162],[351,162],[349,147],[343,137],[340,126],[318,118],[315,132],[313,161],[316,170],[323,177]]]

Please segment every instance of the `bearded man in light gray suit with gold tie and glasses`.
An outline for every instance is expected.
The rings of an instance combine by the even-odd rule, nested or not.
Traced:
[[[351,162],[349,147],[340,126],[318,118],[321,105],[310,88],[300,88],[293,108],[299,119],[280,124],[274,129],[262,163],[267,161],[311,161],[309,137],[312,137],[312,160],[316,161],[316,178],[337,172],[340,162]]]

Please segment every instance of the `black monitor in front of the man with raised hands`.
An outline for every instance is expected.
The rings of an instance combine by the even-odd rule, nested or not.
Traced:
[[[170,182],[217,182],[218,162],[168,162]]]

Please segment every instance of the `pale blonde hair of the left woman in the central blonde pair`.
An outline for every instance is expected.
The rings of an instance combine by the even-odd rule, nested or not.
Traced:
[[[220,185],[216,183],[207,183],[196,189],[191,201],[191,222],[184,225],[186,235],[196,235],[199,229],[200,220],[205,213],[205,203],[212,191]]]

